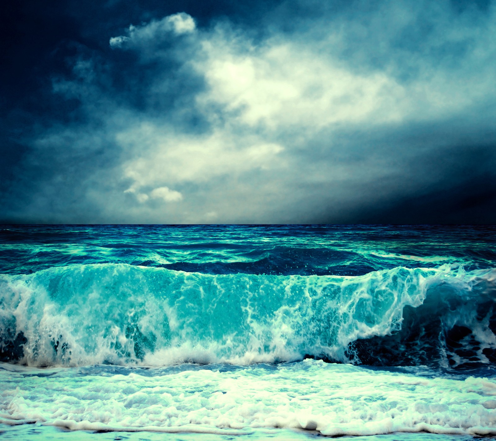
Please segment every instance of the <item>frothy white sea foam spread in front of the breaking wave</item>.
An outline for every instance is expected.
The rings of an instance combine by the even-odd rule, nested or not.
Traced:
[[[496,435],[493,378],[427,378],[305,360],[168,370],[0,370],[0,422],[71,430]]]

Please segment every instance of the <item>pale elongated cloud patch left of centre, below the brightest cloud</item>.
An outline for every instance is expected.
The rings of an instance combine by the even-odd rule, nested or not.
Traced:
[[[124,176],[139,186],[156,186],[164,179],[173,184],[207,183],[221,176],[285,167],[283,158],[276,160],[283,146],[265,143],[256,135],[241,137],[228,127],[193,135],[146,123],[131,125],[116,139],[125,149],[141,145],[140,157],[123,165]]]

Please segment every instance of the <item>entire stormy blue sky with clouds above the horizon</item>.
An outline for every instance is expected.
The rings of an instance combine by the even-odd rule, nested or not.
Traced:
[[[496,1],[1,7],[1,223],[496,223]]]

